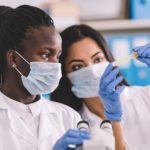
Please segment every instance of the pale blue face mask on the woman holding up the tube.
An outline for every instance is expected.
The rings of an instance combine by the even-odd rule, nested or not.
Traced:
[[[67,76],[72,83],[72,92],[78,98],[99,96],[100,79],[109,62],[98,63],[69,73]]]

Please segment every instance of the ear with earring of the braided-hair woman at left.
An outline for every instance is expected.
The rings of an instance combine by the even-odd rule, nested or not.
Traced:
[[[9,50],[6,54],[7,64],[10,68],[16,68],[17,57],[14,50]]]

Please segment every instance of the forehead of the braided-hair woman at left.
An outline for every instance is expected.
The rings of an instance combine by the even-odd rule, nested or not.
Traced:
[[[30,28],[22,42],[24,49],[36,50],[43,46],[51,49],[61,49],[61,37],[53,27]]]

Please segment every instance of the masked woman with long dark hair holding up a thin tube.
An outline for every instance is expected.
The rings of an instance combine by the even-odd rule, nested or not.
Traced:
[[[128,85],[119,68],[109,64],[114,61],[111,51],[93,28],[73,25],[61,37],[62,78],[51,99],[77,110],[92,128],[111,120],[116,149],[149,149],[150,87]],[[149,44],[136,52],[137,59],[150,62]]]

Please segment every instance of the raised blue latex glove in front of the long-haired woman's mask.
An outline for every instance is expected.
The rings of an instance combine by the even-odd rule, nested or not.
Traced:
[[[109,64],[100,80],[99,94],[104,105],[104,115],[111,121],[120,121],[122,116],[119,95],[124,86],[118,86],[123,80],[122,76],[117,77],[118,73],[119,68],[113,69],[113,65]]]

